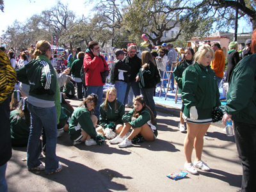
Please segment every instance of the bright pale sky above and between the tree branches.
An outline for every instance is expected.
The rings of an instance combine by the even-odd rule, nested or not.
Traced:
[[[76,15],[88,14],[90,7],[85,8],[84,0],[61,0],[61,2],[68,3],[68,8],[76,13]],[[92,0],[93,2],[93,0]],[[7,29],[7,26],[11,26],[15,19],[20,22],[24,22],[26,19],[36,13],[41,13],[43,10],[49,9],[56,4],[55,0],[4,0],[4,13],[0,12],[1,24],[0,35],[3,34],[3,30]],[[251,31],[251,27],[248,26],[244,20],[239,20],[238,33],[247,33]],[[234,33],[234,30],[230,30]]]

